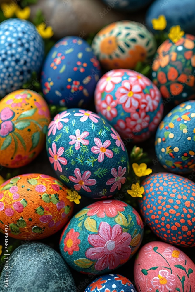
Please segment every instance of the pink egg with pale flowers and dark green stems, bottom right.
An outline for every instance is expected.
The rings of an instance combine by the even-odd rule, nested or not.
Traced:
[[[161,241],[145,244],[134,264],[137,292],[195,291],[195,265],[180,249]]]

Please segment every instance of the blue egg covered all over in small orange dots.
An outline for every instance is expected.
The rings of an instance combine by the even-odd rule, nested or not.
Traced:
[[[155,173],[141,184],[139,206],[144,221],[163,241],[195,246],[195,183],[172,173]]]

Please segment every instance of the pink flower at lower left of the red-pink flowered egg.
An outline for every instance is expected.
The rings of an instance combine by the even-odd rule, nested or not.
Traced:
[[[113,100],[112,95],[107,94],[106,99],[101,102],[101,114],[103,114],[108,121],[112,121],[112,119],[117,116],[116,106],[117,101]]]

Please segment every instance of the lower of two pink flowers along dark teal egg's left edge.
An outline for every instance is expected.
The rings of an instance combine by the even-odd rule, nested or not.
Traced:
[[[60,163],[63,165],[67,164],[67,160],[64,157],[61,157],[61,155],[64,153],[64,147],[60,147],[58,149],[58,152],[57,152],[56,143],[53,142],[52,143],[52,150],[51,150],[51,148],[48,149],[49,154],[51,155],[49,157],[49,161],[50,161],[50,163],[54,164],[55,170],[58,169],[60,172],[62,172],[62,167],[61,167]]]

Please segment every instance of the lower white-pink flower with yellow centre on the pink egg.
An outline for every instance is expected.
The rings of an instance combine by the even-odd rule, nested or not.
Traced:
[[[151,284],[159,292],[173,292],[177,287],[177,279],[175,275],[162,269],[158,272],[158,277],[152,279]]]

